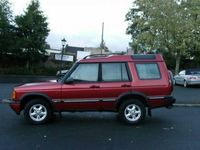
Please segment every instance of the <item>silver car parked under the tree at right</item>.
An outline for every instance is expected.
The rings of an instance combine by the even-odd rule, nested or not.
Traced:
[[[200,85],[200,68],[182,70],[178,75],[174,76],[175,84],[183,85]]]

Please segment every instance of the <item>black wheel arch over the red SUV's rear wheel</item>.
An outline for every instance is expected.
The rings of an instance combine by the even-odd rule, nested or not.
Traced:
[[[119,110],[120,105],[123,102],[128,101],[129,99],[137,99],[141,101],[145,107],[148,107],[146,95],[140,92],[128,92],[128,93],[123,93],[122,95],[118,97],[117,103],[116,103],[116,109]]]

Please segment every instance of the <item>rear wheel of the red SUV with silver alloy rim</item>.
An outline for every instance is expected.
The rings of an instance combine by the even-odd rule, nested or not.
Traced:
[[[119,108],[119,119],[129,125],[141,123],[145,116],[145,105],[137,99],[127,100]]]

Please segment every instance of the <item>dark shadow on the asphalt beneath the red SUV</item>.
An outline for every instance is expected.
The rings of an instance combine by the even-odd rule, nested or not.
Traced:
[[[115,126],[115,127],[145,127],[145,126],[159,126],[166,124],[168,120],[163,117],[149,117],[146,116],[145,120],[138,124],[138,125],[127,125],[124,122],[121,122],[118,118],[117,113],[112,112],[63,112],[62,115],[59,115],[58,113],[55,113],[53,115],[53,118],[50,122],[44,125],[32,125],[29,122],[27,122],[24,118],[24,116],[20,116],[19,118],[15,117],[15,126],[18,124],[19,126],[23,127],[58,127],[58,126],[65,126],[65,127],[73,127],[73,128],[88,128],[88,127],[95,127],[95,126]]]

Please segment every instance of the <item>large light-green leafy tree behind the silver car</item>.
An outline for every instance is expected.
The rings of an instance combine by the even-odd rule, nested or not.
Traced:
[[[126,15],[130,46],[136,51],[169,53],[179,71],[183,56],[199,51],[200,5],[196,0],[135,0]]]

